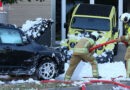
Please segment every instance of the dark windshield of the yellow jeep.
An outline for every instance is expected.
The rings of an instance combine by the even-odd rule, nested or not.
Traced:
[[[109,31],[110,20],[101,18],[90,18],[90,17],[74,17],[72,19],[71,28]]]

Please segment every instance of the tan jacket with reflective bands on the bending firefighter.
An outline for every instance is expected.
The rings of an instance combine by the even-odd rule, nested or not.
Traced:
[[[82,38],[75,45],[74,54],[88,54],[89,49],[95,46],[94,40],[91,38]]]

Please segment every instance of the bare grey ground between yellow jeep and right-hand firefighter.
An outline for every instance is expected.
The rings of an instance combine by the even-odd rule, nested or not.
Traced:
[[[124,44],[119,43],[118,44],[118,52],[117,55],[114,56],[114,61],[123,61],[124,60],[124,56],[125,56],[125,52],[126,52],[126,47]]]

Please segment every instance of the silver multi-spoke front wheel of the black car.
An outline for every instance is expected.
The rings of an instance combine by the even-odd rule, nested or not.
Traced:
[[[57,65],[50,58],[44,58],[37,69],[39,79],[49,80],[57,75]]]

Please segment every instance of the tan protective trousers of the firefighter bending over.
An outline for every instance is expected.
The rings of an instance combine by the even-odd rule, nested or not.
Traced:
[[[98,66],[97,66],[97,61],[96,59],[91,56],[90,54],[86,55],[86,54],[82,54],[82,55],[72,55],[71,60],[70,60],[70,65],[69,68],[66,72],[65,75],[65,81],[69,81],[71,79],[71,76],[75,70],[75,68],[77,67],[77,65],[79,64],[79,62],[83,60],[83,61],[87,61],[92,65],[92,73],[93,73],[93,77],[98,77]]]

